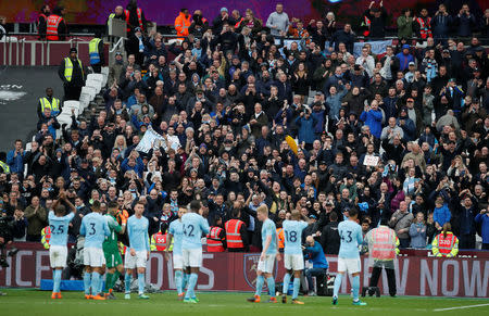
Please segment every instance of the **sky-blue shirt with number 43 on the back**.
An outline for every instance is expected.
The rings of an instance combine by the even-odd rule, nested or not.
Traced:
[[[360,258],[359,245],[363,242],[362,227],[353,220],[343,220],[338,224],[338,233],[341,239],[339,257]]]

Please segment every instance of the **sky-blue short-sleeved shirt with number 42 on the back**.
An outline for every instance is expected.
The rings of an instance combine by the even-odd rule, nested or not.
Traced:
[[[181,249],[202,249],[202,233],[209,233],[208,220],[197,213],[187,213],[181,216]]]

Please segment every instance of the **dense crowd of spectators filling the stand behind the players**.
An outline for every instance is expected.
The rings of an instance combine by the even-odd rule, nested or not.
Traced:
[[[199,200],[210,225],[244,222],[251,250],[261,247],[262,204],[277,227],[299,210],[326,253],[338,252],[336,227],[352,207],[364,232],[389,220],[401,248],[426,248],[449,222],[461,249],[475,249],[476,235],[489,249],[489,10],[478,25],[468,5],[456,16],[440,5],[417,43],[406,10],[399,42],[377,55],[365,43],[358,56],[351,25],[337,26],[331,12],[309,23],[281,4],[264,23],[241,14],[223,8],[206,20],[184,9],[189,35],[166,46],[136,27],[127,59],[117,53],[110,68],[105,110],[70,129],[41,113],[32,148],[18,140],[0,156],[12,238],[39,241],[65,190],[77,208],[71,241],[95,201],[129,215],[141,201],[151,235]],[[385,9],[364,15],[368,36],[384,37]],[[275,41],[287,35],[298,40]],[[138,151],[148,129],[164,141]]]

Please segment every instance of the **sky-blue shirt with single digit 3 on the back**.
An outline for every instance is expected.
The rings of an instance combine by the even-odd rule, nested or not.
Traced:
[[[85,248],[102,249],[105,236],[110,236],[111,230],[106,224],[106,218],[97,212],[92,212],[82,219],[79,233],[85,236]]]

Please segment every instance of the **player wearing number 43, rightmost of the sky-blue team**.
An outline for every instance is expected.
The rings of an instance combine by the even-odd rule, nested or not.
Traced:
[[[338,224],[341,243],[338,253],[338,274],[333,291],[333,305],[338,304],[338,292],[346,273],[349,273],[353,278],[353,305],[366,305],[359,300],[361,269],[359,245],[363,242],[362,227],[356,223],[359,211],[351,208],[348,214],[348,219]]]

